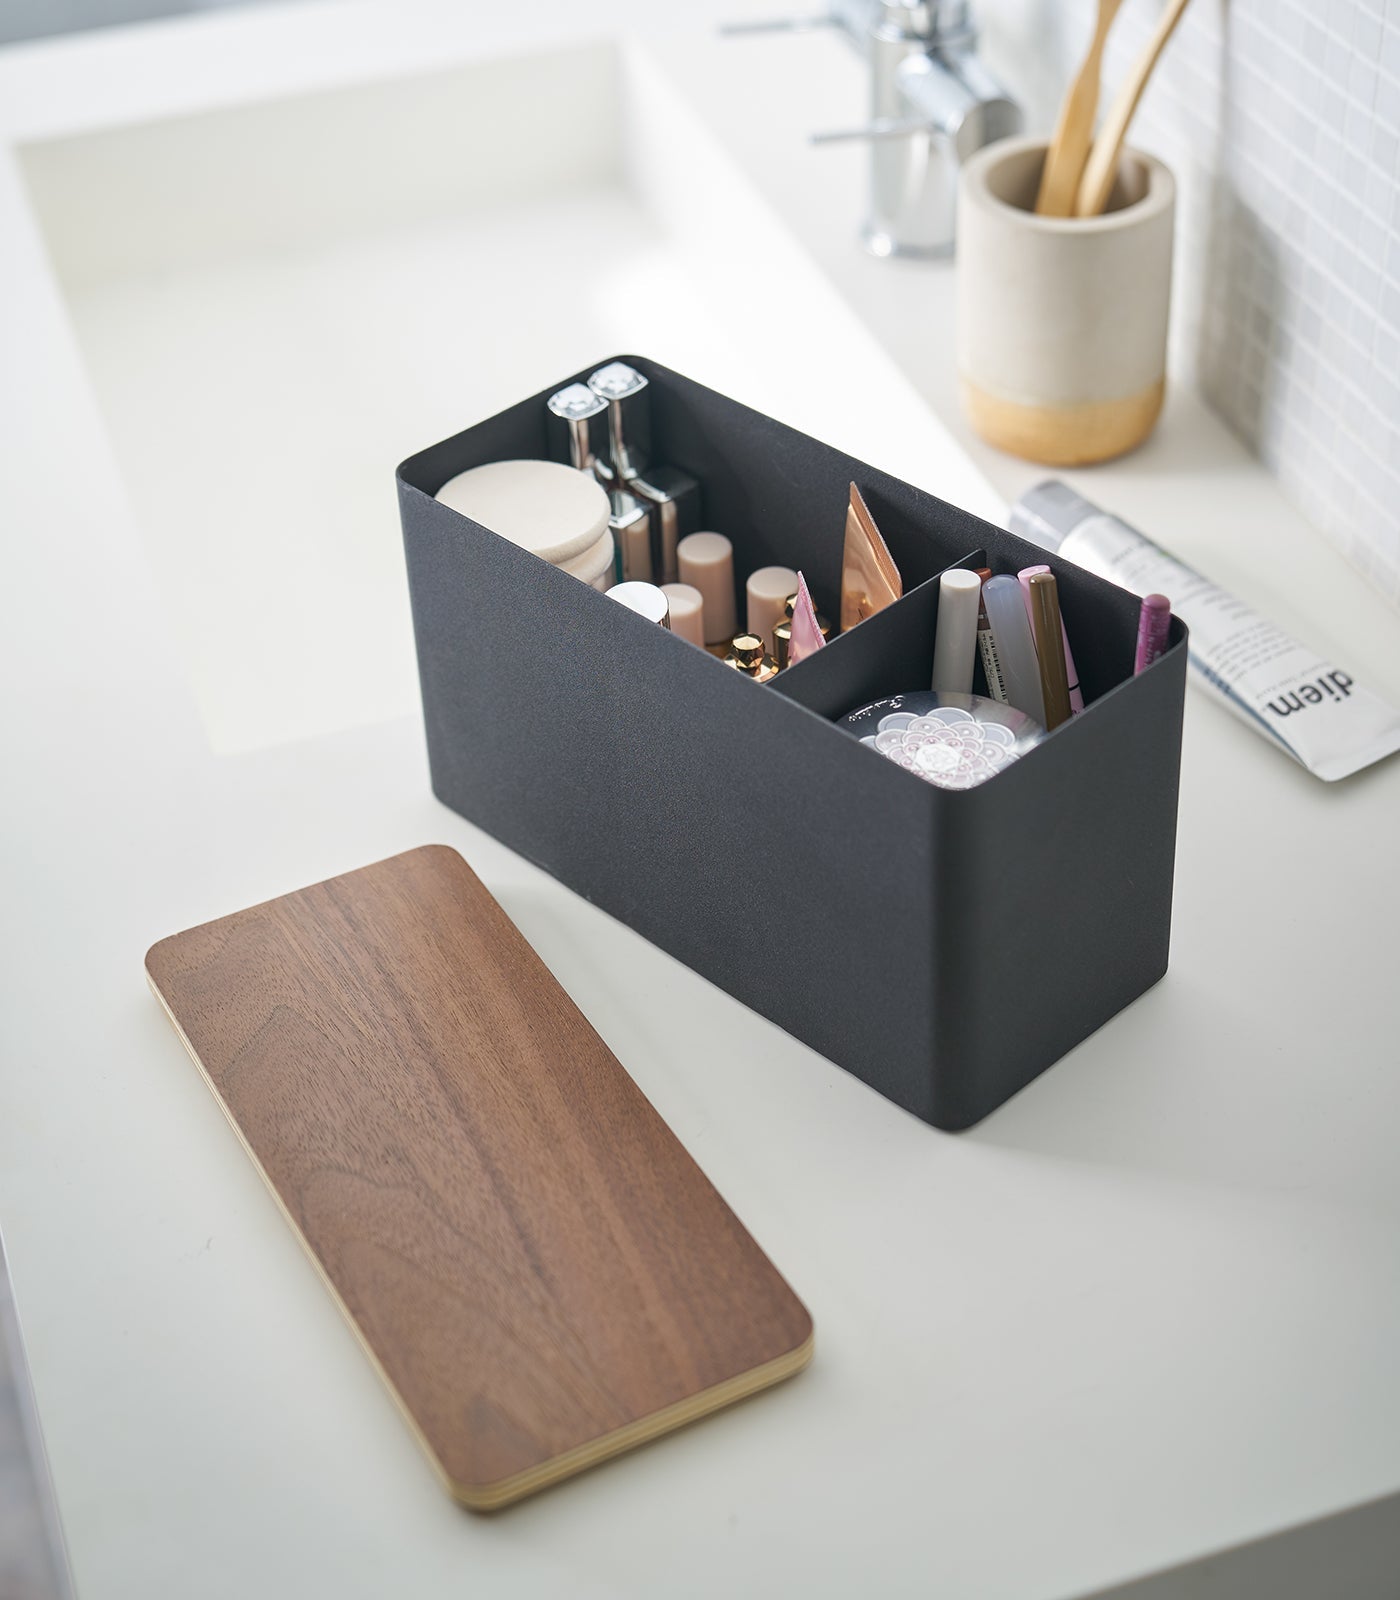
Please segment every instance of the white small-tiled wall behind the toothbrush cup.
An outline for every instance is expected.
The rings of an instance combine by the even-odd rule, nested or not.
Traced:
[[[1104,104],[1160,10],[1123,0]],[[1029,128],[1094,11],[982,0]],[[1131,138],[1179,186],[1176,374],[1400,606],[1400,0],[1192,0]]]

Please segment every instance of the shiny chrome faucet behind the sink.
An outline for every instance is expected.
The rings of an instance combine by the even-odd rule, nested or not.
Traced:
[[[838,0],[824,16],[739,24],[726,32],[838,27],[870,61],[870,120],[813,134],[814,144],[870,141],[870,210],[861,229],[875,256],[949,256],[958,168],[1021,131],[1021,109],[978,56],[968,0]]]

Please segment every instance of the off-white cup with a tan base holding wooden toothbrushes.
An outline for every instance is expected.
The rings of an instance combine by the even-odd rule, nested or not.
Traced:
[[[958,376],[989,443],[1072,467],[1139,445],[1166,381],[1176,182],[1123,150],[1102,216],[1035,214],[1043,139],[1003,139],[958,192]]]

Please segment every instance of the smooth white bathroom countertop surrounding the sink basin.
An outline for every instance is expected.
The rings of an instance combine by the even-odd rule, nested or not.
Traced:
[[[443,810],[411,714],[211,744],[11,147],[645,27],[755,253],[829,278],[826,320],[773,318],[773,349],[806,374],[824,331],[856,349],[854,312],[904,373],[853,355],[829,390],[739,398],[995,509],[984,480],[1038,474],[957,418],[952,272],[861,256],[859,157],[802,142],[850,120],[854,61],[702,27],[762,10],[659,37],[640,5],[587,29],[552,0],[307,5],[0,56],[0,1221],[85,1600],[1054,1600],[1400,1490],[1400,762],[1325,787],[1192,693],[1168,976],[944,1136]],[[1190,397],[1075,482],[1400,701],[1395,613]],[[442,1496],[141,971],[176,928],[427,840],[482,874],[818,1328],[790,1384],[493,1520]]]

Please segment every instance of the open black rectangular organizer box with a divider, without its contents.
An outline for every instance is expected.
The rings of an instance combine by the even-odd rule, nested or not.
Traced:
[[[434,792],[917,1117],[966,1128],[1166,971],[1186,627],[1133,677],[1138,600],[1056,562],[1085,710],[981,787],[933,787],[832,718],[928,686],[939,571],[1043,552],[618,358],[741,581],[798,566],[835,616],[854,482],[904,598],[758,685],[434,499],[467,467],[546,458],[563,374],[398,469]]]

